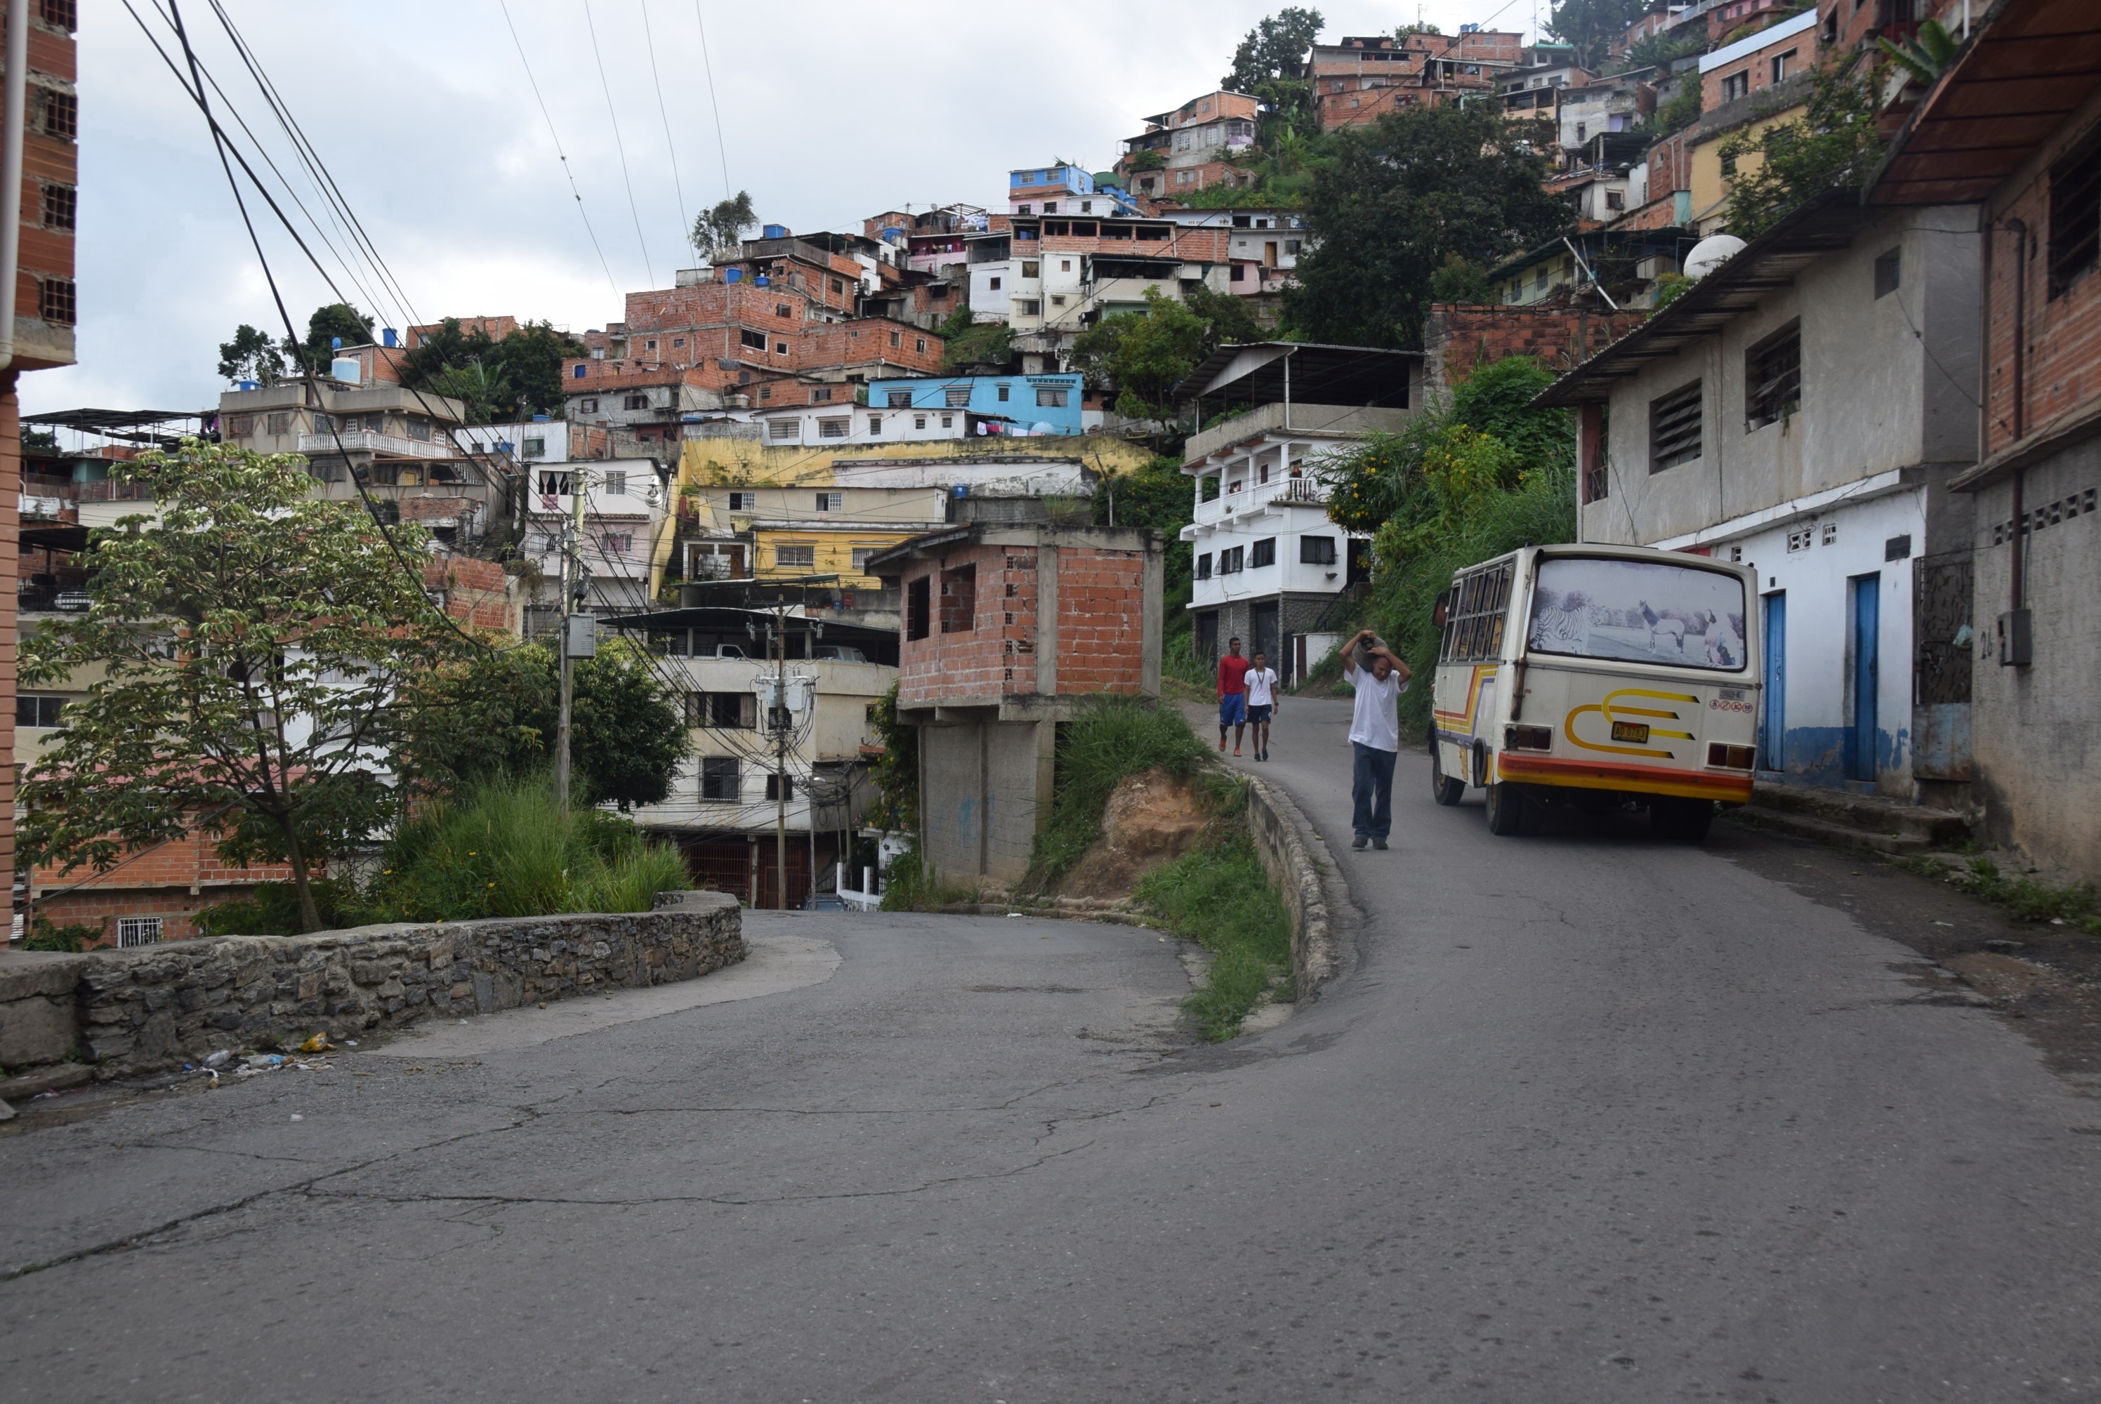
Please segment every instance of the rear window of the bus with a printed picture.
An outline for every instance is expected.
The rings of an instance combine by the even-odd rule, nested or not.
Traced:
[[[1546,557],[1532,591],[1525,647],[1742,673],[1744,582],[1698,565]]]

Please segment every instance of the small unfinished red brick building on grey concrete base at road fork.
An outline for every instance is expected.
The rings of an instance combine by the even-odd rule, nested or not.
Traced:
[[[1137,528],[975,523],[868,561],[903,591],[897,717],[920,738],[920,855],[1015,883],[1050,813],[1057,723],[1160,696],[1166,542]]]

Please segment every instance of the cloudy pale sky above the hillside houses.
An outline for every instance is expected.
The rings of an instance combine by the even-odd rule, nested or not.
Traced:
[[[153,0],[130,4],[181,61]],[[857,229],[866,214],[906,202],[998,208],[1006,168],[1025,162],[1063,156],[1101,170],[1145,113],[1210,90],[1240,36],[1275,8],[1261,0],[221,4],[401,290],[382,294],[363,263],[347,271],[273,189],[351,301],[393,326],[513,313],[571,330],[618,319],[618,290],[666,286],[691,263],[681,231],[729,189],[748,189],[769,223]],[[80,8],[80,364],[23,376],[23,412],[208,406],[225,387],[219,343],[242,322],[279,332],[282,324],[195,105],[122,0]],[[1466,21],[1523,32],[1534,23],[1534,0],[1319,8],[1324,38],[1387,32],[1418,8],[1448,34]],[[210,2],[185,0],[183,19],[233,113],[347,248]],[[231,116],[221,122],[237,132]],[[244,195],[305,330],[313,307],[334,301],[328,284],[254,191]]]

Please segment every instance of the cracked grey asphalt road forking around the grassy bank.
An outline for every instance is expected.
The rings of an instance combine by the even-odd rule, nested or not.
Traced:
[[[1242,765],[1347,843],[1343,729]],[[1233,1045],[1145,931],[754,916],[752,998],[4,1135],[0,1398],[2101,1396],[2101,1108],[2015,1026],[1771,839],[1395,809]]]

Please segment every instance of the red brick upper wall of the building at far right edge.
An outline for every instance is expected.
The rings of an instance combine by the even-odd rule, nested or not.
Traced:
[[[2017,240],[2006,221],[2027,225],[2027,259],[2017,263]],[[2023,429],[2034,433],[2067,410],[2101,395],[2101,271],[2088,269],[2051,296],[2051,202],[2048,174],[2015,198],[2000,227],[1990,233],[1985,298],[1992,309],[1985,364],[1985,454],[1996,454],[2015,437],[2013,336],[2015,280],[2027,280],[2027,364],[2023,366]],[[2025,265],[2025,267],[2021,267]]]

